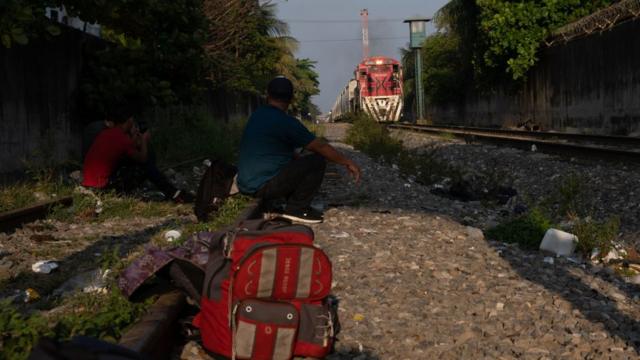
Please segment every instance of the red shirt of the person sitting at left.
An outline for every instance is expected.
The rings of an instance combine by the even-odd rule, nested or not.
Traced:
[[[137,151],[133,140],[119,127],[102,130],[84,157],[82,185],[103,188],[111,173],[125,156]]]

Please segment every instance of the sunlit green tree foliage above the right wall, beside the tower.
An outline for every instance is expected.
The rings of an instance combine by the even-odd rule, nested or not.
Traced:
[[[451,0],[435,15],[422,48],[427,101],[442,105],[467,91],[517,85],[556,29],[613,0]],[[404,58],[405,100],[413,99],[413,57]]]

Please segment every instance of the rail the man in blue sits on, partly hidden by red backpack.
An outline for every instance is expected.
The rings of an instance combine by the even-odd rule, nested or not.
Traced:
[[[247,219],[262,214],[262,204],[251,203],[235,220],[234,227]],[[120,338],[119,345],[144,355],[149,359],[169,359],[179,338],[180,316],[187,305],[186,296],[179,291],[161,295],[142,316]]]

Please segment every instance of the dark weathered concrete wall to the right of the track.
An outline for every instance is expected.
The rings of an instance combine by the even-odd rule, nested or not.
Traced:
[[[640,20],[545,48],[528,81],[506,95],[469,95],[460,105],[428,107],[437,124],[640,134]]]

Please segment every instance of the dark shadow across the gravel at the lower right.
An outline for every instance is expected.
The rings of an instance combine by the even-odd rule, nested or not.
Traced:
[[[640,322],[621,312],[615,299],[594,289],[583,278],[574,272],[585,272],[581,267],[558,261],[553,265],[542,262],[542,256],[537,255],[533,261],[523,261],[522,254],[513,253],[515,250],[504,249],[498,244],[489,242],[489,246],[501,251],[501,257],[509,262],[511,268],[523,279],[545,287],[552,293],[561,296],[572,305],[572,310],[580,311],[581,315],[570,315],[574,318],[583,317],[593,323],[599,323],[610,336],[618,337],[633,347],[640,354]],[[585,274],[602,278],[607,283],[624,291],[629,298],[640,294],[637,288],[627,284],[616,284],[617,281],[603,274]],[[572,310],[569,310],[571,312]],[[565,329],[568,334],[577,333],[580,330]],[[584,339],[587,342],[597,341],[597,335],[589,334]]]

